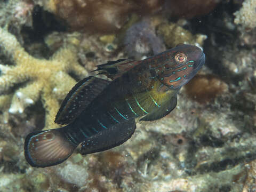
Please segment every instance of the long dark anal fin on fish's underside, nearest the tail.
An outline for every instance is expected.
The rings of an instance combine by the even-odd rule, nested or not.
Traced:
[[[91,154],[119,146],[131,138],[135,129],[134,119],[121,124],[114,124],[83,141],[81,154]]]

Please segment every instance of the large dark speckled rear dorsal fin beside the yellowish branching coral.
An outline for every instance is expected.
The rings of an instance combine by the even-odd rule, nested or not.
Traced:
[[[54,122],[62,125],[72,122],[109,83],[92,76],[79,81],[62,101]]]

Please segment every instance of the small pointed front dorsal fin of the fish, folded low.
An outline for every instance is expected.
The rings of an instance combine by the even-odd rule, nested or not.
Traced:
[[[122,76],[123,73],[130,70],[140,62],[131,59],[119,59],[116,61],[108,61],[105,64],[98,65],[94,71],[99,71],[99,74],[106,75],[108,78],[115,79]]]

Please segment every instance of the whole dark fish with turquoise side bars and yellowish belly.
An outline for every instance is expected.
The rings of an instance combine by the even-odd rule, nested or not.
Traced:
[[[59,129],[33,132],[25,140],[31,166],[65,161],[82,143],[90,154],[121,145],[140,121],[154,121],[177,105],[177,93],[202,68],[205,55],[196,46],[180,44],[145,60],[117,60],[99,65],[112,81],[87,77],[62,102],[55,123]]]

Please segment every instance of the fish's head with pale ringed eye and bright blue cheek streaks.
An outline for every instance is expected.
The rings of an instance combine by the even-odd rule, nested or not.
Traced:
[[[169,59],[166,61],[158,79],[169,89],[177,90],[193,78],[205,62],[203,51],[193,45],[179,44],[166,51]]]

